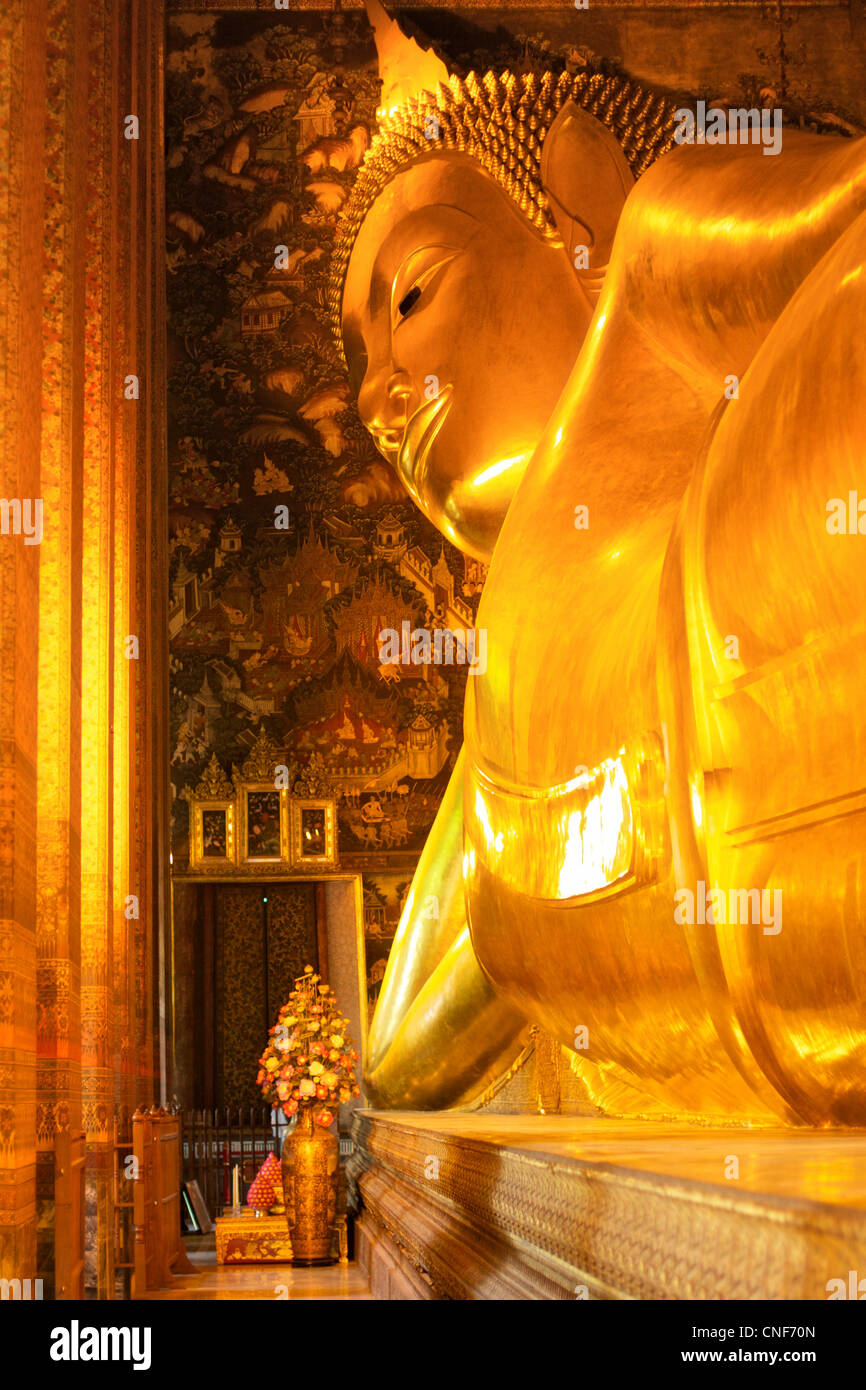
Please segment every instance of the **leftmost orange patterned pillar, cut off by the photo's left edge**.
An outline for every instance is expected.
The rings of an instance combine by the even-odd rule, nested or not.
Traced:
[[[0,24],[0,496],[40,495],[46,4]],[[36,1277],[39,546],[0,535],[0,1277]]]

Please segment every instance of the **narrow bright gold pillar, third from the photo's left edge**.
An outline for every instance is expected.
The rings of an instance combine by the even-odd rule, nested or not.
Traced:
[[[122,13],[114,7],[115,14]],[[114,1280],[114,667],[124,662],[114,628],[115,398],[122,385],[113,352],[113,242],[117,224],[114,150],[115,24],[103,0],[88,22],[88,218],[82,538],[82,1098],[88,1136],[88,1205],[96,1215],[96,1284]],[[106,215],[108,214],[108,215]],[[117,841],[125,840],[125,819]]]

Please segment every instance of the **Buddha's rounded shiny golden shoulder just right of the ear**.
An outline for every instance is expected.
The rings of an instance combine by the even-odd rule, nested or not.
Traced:
[[[609,297],[694,366],[742,367],[830,247],[866,227],[865,206],[866,140],[795,131],[776,156],[678,146],[626,200]]]

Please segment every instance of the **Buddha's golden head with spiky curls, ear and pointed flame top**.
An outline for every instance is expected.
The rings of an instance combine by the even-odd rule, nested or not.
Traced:
[[[673,108],[591,70],[461,82],[368,8],[386,85],[338,229],[334,328],[379,452],[488,560]],[[435,96],[407,96],[413,61]]]

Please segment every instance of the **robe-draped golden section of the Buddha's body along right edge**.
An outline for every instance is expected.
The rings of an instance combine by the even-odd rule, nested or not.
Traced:
[[[666,599],[688,644],[681,785],[702,787],[706,877],[774,905],[748,949],[741,927],[716,933],[737,1036],[813,1125],[866,1115],[865,256],[866,213],[726,404]]]

